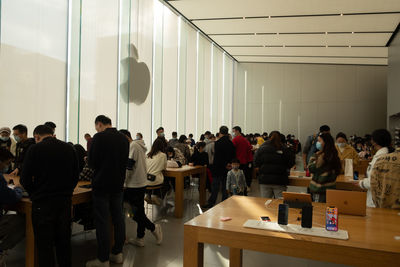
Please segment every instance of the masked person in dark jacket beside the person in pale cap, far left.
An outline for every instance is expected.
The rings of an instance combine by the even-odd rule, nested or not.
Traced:
[[[25,161],[25,155],[30,146],[35,144],[35,139],[28,138],[28,128],[25,125],[18,124],[13,128],[13,135],[17,141],[14,170],[11,175],[17,176],[21,174],[22,166]]]

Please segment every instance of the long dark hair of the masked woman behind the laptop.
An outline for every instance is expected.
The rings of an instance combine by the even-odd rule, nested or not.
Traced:
[[[342,169],[342,164],[340,163],[340,158],[332,135],[324,133],[320,134],[319,137],[324,140],[322,153],[324,153],[325,171],[335,171],[336,174],[339,174]]]

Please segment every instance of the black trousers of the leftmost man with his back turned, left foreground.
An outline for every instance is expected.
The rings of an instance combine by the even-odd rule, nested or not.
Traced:
[[[40,267],[71,266],[71,197],[32,203],[32,224]]]

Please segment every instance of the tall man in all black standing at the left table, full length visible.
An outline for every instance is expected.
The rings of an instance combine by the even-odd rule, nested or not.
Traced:
[[[122,263],[125,243],[123,187],[129,155],[126,137],[112,127],[111,119],[100,115],[95,120],[97,134],[89,150],[89,167],[94,170],[92,180],[93,208],[96,224],[97,259],[87,267],[109,266],[110,261]],[[114,226],[114,247],[110,254],[110,214]]]

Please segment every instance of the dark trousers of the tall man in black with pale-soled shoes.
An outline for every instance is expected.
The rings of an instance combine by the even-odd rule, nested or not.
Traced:
[[[110,257],[110,215],[114,225],[114,247],[111,252],[119,254],[125,243],[125,217],[123,193],[93,192],[93,208],[96,224],[97,258],[108,261]]]

